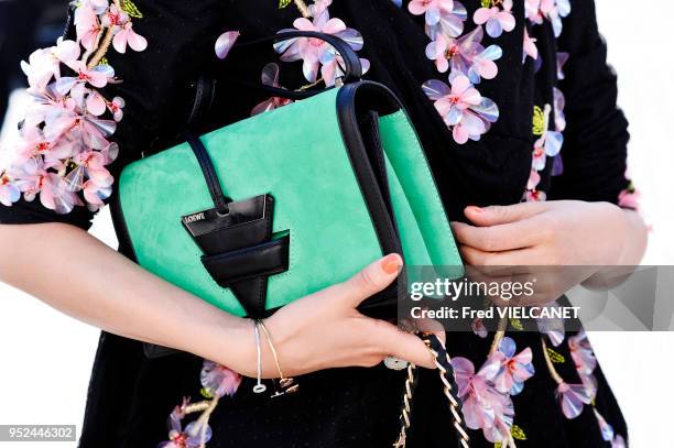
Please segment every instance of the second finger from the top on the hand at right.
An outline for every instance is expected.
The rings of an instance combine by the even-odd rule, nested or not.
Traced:
[[[452,222],[459,244],[483,252],[501,252],[535,245],[544,237],[531,219],[492,227],[475,227],[464,222]]]

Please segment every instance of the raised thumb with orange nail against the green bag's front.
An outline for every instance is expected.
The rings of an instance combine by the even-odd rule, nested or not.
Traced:
[[[366,298],[389,286],[403,265],[402,258],[392,253],[370,264],[343,284],[343,299],[360,305]]]

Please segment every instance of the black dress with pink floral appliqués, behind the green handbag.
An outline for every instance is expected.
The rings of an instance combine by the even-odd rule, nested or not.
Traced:
[[[200,74],[218,78],[204,131],[289,102],[237,80],[334,85],[339,55],[319,41],[230,52],[237,40],[284,29],[339,35],[359,53],[365,77],[402,99],[450,219],[463,220],[467,205],[521,200],[637,205],[624,174],[628,123],[591,0],[81,0],[74,8],[64,39],[23,65],[35,105],[22,143],[0,165],[0,222],[87,229],[126,164],[180,140]],[[448,335],[471,446],[626,446],[587,337],[506,324],[496,335],[479,321],[474,332]],[[438,379],[421,375],[406,446],[452,445]],[[188,353],[151,360],[140,342],[104,332],[80,446],[396,440],[403,372],[317,372],[301,379],[300,393],[271,401],[251,392],[252,381]]]

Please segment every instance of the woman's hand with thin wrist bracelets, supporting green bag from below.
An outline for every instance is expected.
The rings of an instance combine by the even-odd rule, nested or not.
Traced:
[[[283,373],[298,375],[330,368],[373,367],[388,356],[434,368],[433,358],[418,337],[356,309],[362,301],[389,286],[401,267],[399,255],[388,255],[349,281],[295,301],[267,319]],[[254,376],[257,350],[252,321],[242,320],[235,331],[239,336],[228,339],[237,345],[237,353],[215,361]],[[444,340],[444,334],[438,336]],[[261,345],[262,375],[278,378],[264,334]]]

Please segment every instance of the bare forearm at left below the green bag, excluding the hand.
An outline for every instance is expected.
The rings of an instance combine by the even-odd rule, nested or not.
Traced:
[[[226,362],[242,319],[63,223],[0,226],[0,281],[107,331]],[[230,340],[226,340],[230,339]]]

